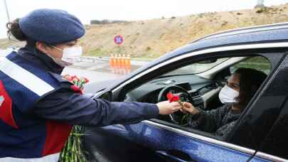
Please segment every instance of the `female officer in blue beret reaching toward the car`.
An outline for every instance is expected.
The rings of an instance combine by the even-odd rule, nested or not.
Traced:
[[[0,63],[0,161],[57,161],[75,124],[132,124],[181,108],[178,102],[108,102],[75,92],[60,73],[82,54],[77,43],[85,28],[66,11],[38,9],[7,27],[26,46]]]

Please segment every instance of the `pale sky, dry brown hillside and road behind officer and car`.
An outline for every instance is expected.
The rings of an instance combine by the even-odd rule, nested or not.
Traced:
[[[0,0],[0,60],[24,42],[9,41],[6,23],[34,9],[63,9],[85,24],[84,57],[65,73],[103,80],[129,74],[147,61],[211,33],[288,21],[288,0],[59,1]],[[122,36],[122,43],[114,43]],[[96,72],[96,73],[95,73]],[[101,78],[95,77],[95,80]]]

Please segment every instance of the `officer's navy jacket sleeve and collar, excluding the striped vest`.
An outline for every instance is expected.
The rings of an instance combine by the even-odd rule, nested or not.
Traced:
[[[18,54],[49,72],[60,75],[63,70],[48,55],[35,48],[26,46],[18,50]],[[108,102],[105,99],[91,99],[67,89],[60,89],[39,99],[33,113],[43,119],[63,121],[71,125],[107,126],[133,124],[155,118],[159,109],[156,104]]]

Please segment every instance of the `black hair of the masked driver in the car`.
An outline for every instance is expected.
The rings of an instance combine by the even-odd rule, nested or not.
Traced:
[[[233,74],[238,76],[240,86],[239,96],[236,100],[240,109],[244,109],[267,75],[264,72],[250,68],[238,68]]]

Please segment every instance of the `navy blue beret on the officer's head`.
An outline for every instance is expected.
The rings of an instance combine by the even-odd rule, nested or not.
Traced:
[[[34,41],[48,44],[74,41],[85,34],[78,18],[58,9],[37,9],[19,19],[21,31]]]

